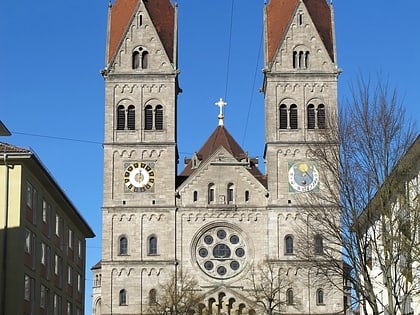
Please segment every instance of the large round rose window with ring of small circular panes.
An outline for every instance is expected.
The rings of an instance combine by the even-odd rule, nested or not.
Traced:
[[[214,226],[195,241],[194,259],[200,269],[216,279],[229,279],[246,266],[247,250],[238,229]]]

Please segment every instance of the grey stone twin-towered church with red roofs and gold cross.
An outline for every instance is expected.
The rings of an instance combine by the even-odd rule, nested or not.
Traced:
[[[322,196],[328,177],[308,145],[337,115],[333,8],[270,0],[260,16],[265,173],[224,126],[225,100],[215,99],[218,125],[178,174],[177,6],[110,4],[93,314],[346,313],[343,279],[327,285],[299,255],[307,246],[322,259],[324,247],[337,246],[322,229],[308,231],[307,244],[299,236],[302,196]],[[171,284],[172,300],[186,291],[194,299],[188,310],[163,305]]]

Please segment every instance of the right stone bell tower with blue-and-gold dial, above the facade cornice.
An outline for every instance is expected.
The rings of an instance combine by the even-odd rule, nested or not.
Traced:
[[[308,144],[337,114],[333,9],[325,0],[271,0],[265,8],[265,161],[269,204],[320,189]]]

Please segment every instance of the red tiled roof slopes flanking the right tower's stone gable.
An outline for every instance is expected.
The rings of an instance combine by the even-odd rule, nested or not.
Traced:
[[[266,7],[267,58],[271,62],[284,40],[299,2],[303,1],[316,29],[334,61],[333,25],[331,8],[325,0],[271,0]]]

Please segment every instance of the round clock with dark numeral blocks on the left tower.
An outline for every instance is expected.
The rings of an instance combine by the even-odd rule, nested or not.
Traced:
[[[148,163],[131,163],[125,169],[124,183],[133,192],[147,191],[155,183],[155,171]]]

